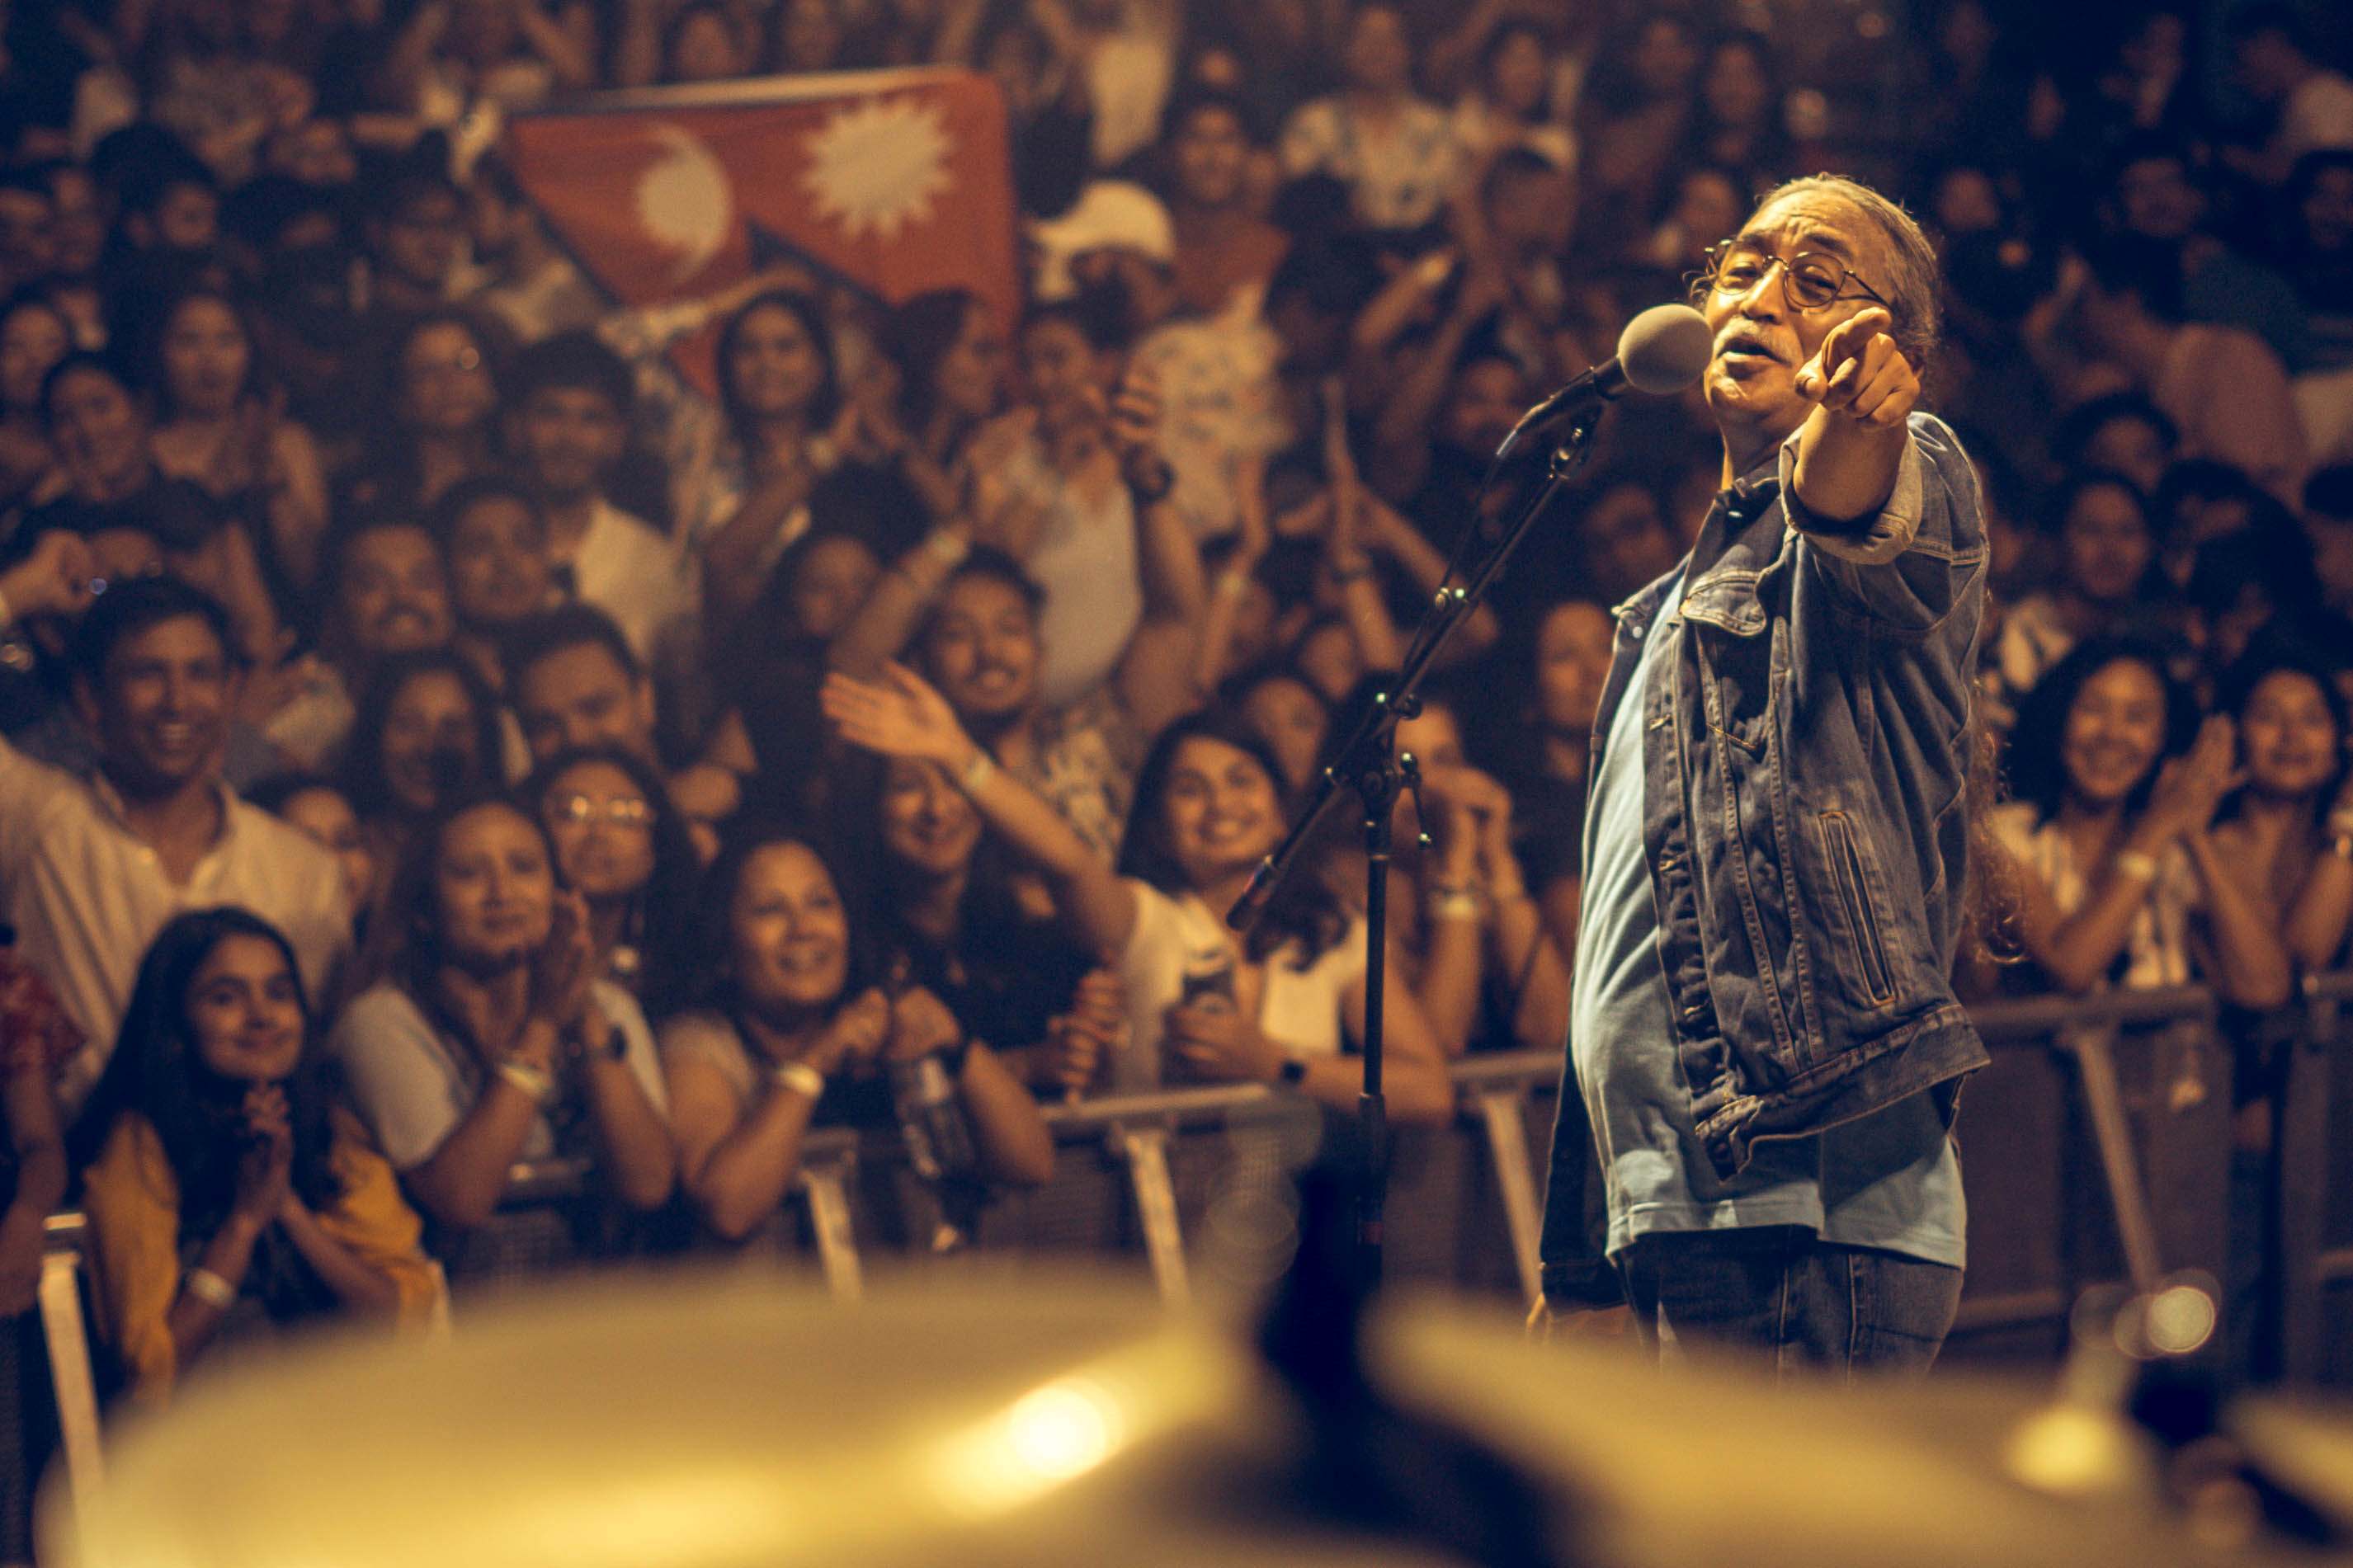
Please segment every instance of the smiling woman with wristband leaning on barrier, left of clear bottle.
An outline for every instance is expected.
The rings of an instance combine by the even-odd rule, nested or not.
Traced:
[[[809,835],[744,827],[694,914],[704,1004],[661,1027],[661,1060],[687,1199],[713,1232],[760,1229],[793,1190],[812,1124],[887,1126],[880,1067],[925,1056],[955,1084],[981,1175],[1052,1175],[1054,1140],[1028,1091],[939,997],[878,973]]]

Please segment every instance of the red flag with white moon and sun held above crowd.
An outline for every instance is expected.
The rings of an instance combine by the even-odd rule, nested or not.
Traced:
[[[984,75],[652,87],[518,115],[506,136],[551,235],[624,306],[798,261],[885,303],[962,287],[998,320],[1019,310],[1005,101]]]

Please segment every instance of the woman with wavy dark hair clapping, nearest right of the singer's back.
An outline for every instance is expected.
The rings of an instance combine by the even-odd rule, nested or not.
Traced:
[[[2188,985],[2240,1006],[2287,999],[2278,931],[2214,839],[2240,785],[2231,719],[2165,656],[2099,637],[2052,665],[2009,738],[2014,802],[1991,818],[2017,884],[2017,936],[2057,987]]]

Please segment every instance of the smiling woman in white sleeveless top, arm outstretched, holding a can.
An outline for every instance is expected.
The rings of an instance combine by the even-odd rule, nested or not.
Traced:
[[[1315,877],[1289,877],[1240,943],[1221,919],[1285,827],[1280,764],[1247,722],[1198,712],[1160,731],[1113,870],[913,670],[889,665],[887,684],[833,675],[824,701],[854,745],[946,769],[1047,877],[1071,933],[1120,971],[1129,1041],[1113,1088],[1153,1088],[1172,1070],[1355,1105],[1341,1048],[1365,1025],[1362,924]],[[1442,1119],[1447,1053],[1405,985],[1388,987],[1384,1044],[1391,1114]]]

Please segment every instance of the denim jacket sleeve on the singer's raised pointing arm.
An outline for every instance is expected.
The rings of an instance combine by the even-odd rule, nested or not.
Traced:
[[[1986,569],[1986,517],[1977,470],[1953,430],[1911,416],[1887,505],[1864,522],[1812,517],[1795,489],[1798,437],[1781,442],[1781,503],[1798,531],[1802,569],[1861,621],[1929,632]]]

